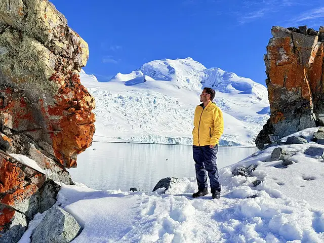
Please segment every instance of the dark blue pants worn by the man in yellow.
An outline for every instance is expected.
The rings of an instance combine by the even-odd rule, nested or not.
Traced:
[[[218,145],[213,148],[207,146],[193,146],[193,160],[196,168],[196,178],[199,190],[204,190],[208,187],[207,172],[211,183],[211,191],[221,191],[221,183],[216,165],[216,154]],[[207,172],[206,172],[207,171]]]

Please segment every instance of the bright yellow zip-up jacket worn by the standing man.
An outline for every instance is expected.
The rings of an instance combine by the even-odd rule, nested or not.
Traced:
[[[214,103],[209,102],[203,108],[203,104],[196,107],[193,119],[193,145],[206,146],[216,145],[224,131],[224,120],[221,109]]]

